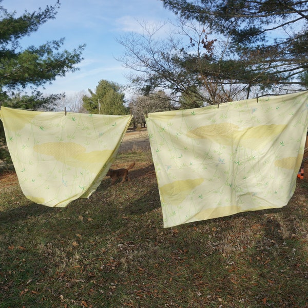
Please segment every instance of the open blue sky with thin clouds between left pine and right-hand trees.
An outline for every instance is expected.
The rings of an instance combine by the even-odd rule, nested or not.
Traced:
[[[124,47],[117,42],[131,31],[139,32],[139,22],[161,23],[172,20],[174,14],[163,7],[160,0],[61,0],[61,7],[54,20],[41,25],[36,32],[22,41],[23,47],[39,46],[51,40],[64,37],[63,49],[72,51],[86,44],[84,60],[76,65],[80,68],[57,78],[52,85],[46,84],[43,93],[72,95],[82,90],[95,91],[100,80],[128,83],[127,68],[116,59],[124,53]],[[3,0],[1,6],[16,16],[25,10],[37,11],[56,0]]]

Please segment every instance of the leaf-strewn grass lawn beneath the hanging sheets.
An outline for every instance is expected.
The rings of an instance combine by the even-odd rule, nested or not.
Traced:
[[[0,176],[0,307],[308,307],[308,183],[282,209],[163,228],[149,151],[66,208]]]

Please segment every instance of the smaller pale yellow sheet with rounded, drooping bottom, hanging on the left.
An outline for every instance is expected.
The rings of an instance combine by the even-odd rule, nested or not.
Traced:
[[[131,118],[2,107],[0,119],[25,196],[53,207],[88,198],[106,175]]]

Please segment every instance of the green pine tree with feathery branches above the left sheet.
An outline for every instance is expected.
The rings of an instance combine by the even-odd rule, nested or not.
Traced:
[[[27,48],[22,48],[20,43],[23,37],[54,19],[59,8],[60,2],[57,0],[54,6],[47,6],[44,10],[40,8],[31,13],[25,11],[21,16],[16,16],[15,12],[9,13],[0,6],[0,100],[3,105],[16,102],[15,94],[17,93],[17,98],[21,98],[26,87],[31,88],[34,95],[34,106],[32,104],[30,108],[46,104],[46,99],[37,99],[42,94],[37,91],[37,87],[78,69],[75,65],[82,61],[84,45],[72,51],[61,51],[64,38]],[[8,100],[12,97],[13,100]],[[50,99],[54,101],[54,97]],[[27,100],[28,98],[24,102]]]

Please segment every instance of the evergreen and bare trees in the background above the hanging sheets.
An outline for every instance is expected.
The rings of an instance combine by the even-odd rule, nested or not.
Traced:
[[[102,79],[95,91],[71,98],[71,108],[109,114],[132,110],[137,116],[307,88],[306,1],[161,1],[178,16],[168,36],[162,35],[164,24],[143,24],[142,34],[118,39],[125,47],[118,60],[132,71],[127,76],[130,100],[121,85]],[[37,87],[77,70],[85,45],[61,51],[64,38],[26,49],[20,44],[23,36],[55,18],[59,8],[57,0],[16,16],[0,6],[3,106],[55,110],[69,103],[65,93],[44,95]],[[29,88],[30,94],[25,92]]]

